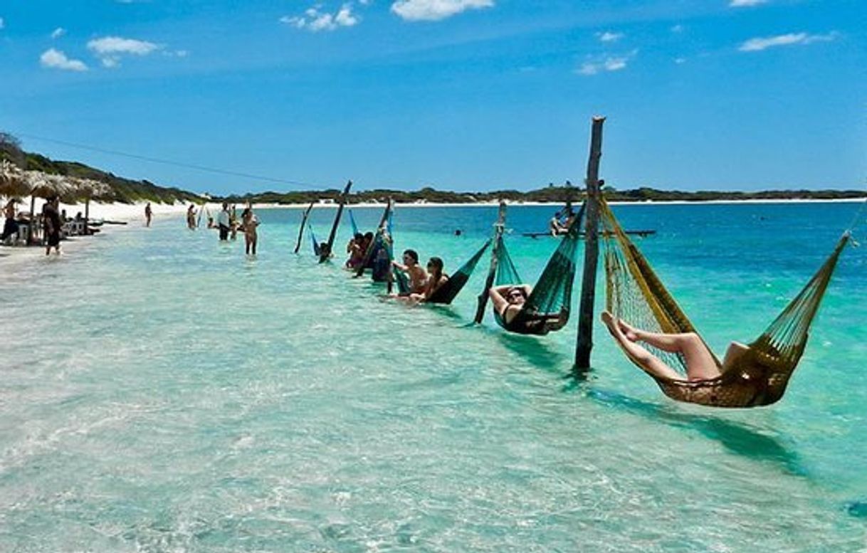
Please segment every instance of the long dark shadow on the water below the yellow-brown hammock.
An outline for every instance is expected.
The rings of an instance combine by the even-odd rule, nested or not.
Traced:
[[[700,433],[706,438],[719,442],[720,446],[725,447],[729,452],[747,459],[770,461],[782,466],[786,472],[809,476],[801,464],[798,452],[784,440],[768,436],[738,422],[717,418],[712,414],[685,413],[675,405],[650,403],[616,392],[600,390],[591,387],[586,381],[586,376],[582,380],[580,376],[570,374],[568,378],[574,381],[574,384],[567,385],[565,389],[582,388],[587,397],[606,407],[615,407],[646,419]]]

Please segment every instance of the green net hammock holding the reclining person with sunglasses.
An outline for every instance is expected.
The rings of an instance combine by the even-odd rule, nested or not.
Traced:
[[[579,231],[584,205],[578,210],[569,230],[561,238],[560,245],[551,255],[548,264],[533,287],[530,297],[512,321],[505,322],[494,310],[494,319],[499,326],[518,334],[546,335],[562,329],[569,322],[572,283],[575,280],[575,257],[578,250]],[[502,234],[496,238],[493,256],[497,259],[496,286],[524,282],[505,249]]]

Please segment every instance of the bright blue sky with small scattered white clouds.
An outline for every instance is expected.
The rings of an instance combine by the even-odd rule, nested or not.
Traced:
[[[3,0],[0,130],[199,192],[529,190],[583,179],[603,114],[618,188],[863,188],[865,23],[864,0]]]

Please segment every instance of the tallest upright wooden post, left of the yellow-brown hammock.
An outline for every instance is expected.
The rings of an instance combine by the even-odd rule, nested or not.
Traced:
[[[581,281],[581,305],[578,308],[578,337],[575,368],[590,368],[593,348],[593,307],[596,302],[596,265],[599,260],[599,159],[602,158],[604,117],[593,118],[590,133],[590,160],[587,162],[587,223],[584,227],[584,274]]]

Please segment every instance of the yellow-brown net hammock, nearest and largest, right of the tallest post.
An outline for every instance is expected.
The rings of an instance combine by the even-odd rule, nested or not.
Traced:
[[[608,204],[602,199],[601,219],[605,241],[606,303],[612,315],[636,327],[663,334],[695,332],[647,259],[629,240]],[[669,398],[712,407],[759,407],[783,397],[786,384],[804,353],[808,331],[822,296],[831,280],[840,252],[849,233],[840,238],[831,257],[806,284],[798,296],[783,309],[764,333],[746,346],[722,374],[705,381],[673,380],[650,374]],[[697,334],[697,333],[696,333]],[[642,344],[654,355],[684,373],[681,355]],[[706,344],[707,346],[707,344]],[[710,348],[707,348],[710,351]],[[631,359],[631,358],[630,358]],[[641,364],[632,359],[639,368]],[[643,368],[642,368],[643,369]]]

